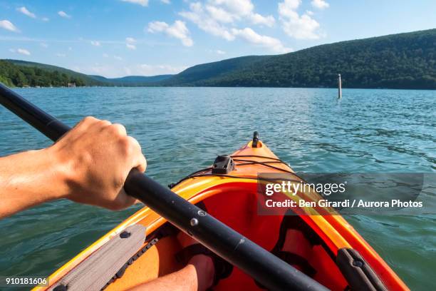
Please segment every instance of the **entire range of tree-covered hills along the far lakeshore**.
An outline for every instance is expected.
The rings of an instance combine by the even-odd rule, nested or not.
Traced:
[[[8,86],[248,86],[436,89],[436,29],[342,41],[275,56],[242,56],[177,75],[104,78],[27,61],[0,60]]]

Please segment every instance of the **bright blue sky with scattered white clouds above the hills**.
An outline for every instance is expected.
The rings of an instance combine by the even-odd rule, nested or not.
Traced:
[[[436,27],[436,1],[0,0],[0,58],[118,77]]]

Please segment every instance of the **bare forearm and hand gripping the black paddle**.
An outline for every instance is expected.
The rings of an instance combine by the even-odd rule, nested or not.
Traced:
[[[123,126],[85,118],[53,146],[0,158],[0,218],[59,198],[126,208],[135,199],[123,190],[125,178],[146,166]]]

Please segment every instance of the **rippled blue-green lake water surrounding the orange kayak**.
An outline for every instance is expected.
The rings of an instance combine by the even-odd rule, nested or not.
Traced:
[[[28,88],[19,93],[73,126],[123,123],[147,173],[175,182],[232,153],[253,131],[296,171],[436,172],[436,91],[310,88]],[[0,108],[0,155],[51,143]],[[0,221],[0,275],[49,275],[139,206],[110,212],[66,200]],[[348,221],[413,290],[435,287],[436,216]]]

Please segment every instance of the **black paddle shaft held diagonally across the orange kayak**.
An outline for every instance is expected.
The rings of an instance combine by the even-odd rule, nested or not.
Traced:
[[[71,129],[1,83],[0,103],[52,141]],[[327,290],[139,170],[130,171],[124,189],[269,290]]]

